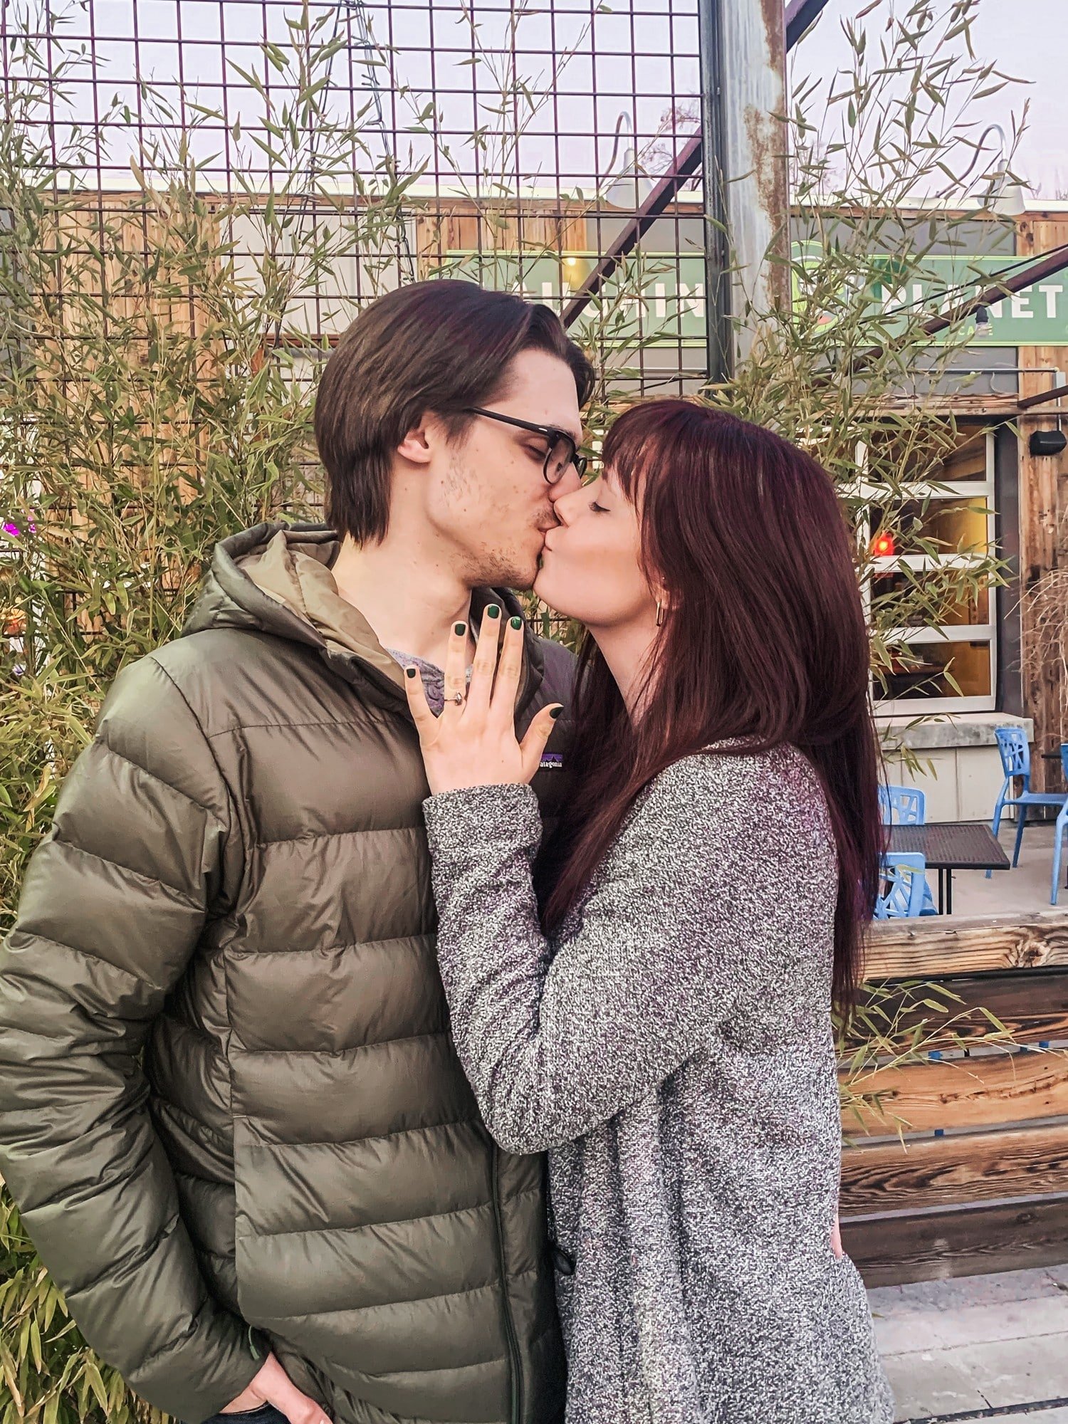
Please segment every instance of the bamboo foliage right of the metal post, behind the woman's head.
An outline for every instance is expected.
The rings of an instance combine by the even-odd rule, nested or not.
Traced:
[[[1002,251],[1012,232],[1010,219],[981,205],[993,179],[1011,177],[1011,154],[997,174],[977,167],[975,100],[1007,84],[974,56],[977,4],[910,0],[894,11],[876,0],[867,20],[843,21],[849,61],[840,71],[792,75],[782,122],[800,255],[786,255],[783,241],[768,253],[789,299],[760,305],[746,293],[736,319],[753,333],[752,346],[733,379],[708,393],[807,449],[834,478],[856,531],[877,688],[891,666],[920,661],[903,631],[953,621],[1001,578],[991,551],[923,534],[931,498],[946,488],[944,461],[984,439],[958,427],[947,399],[974,379],[954,373],[973,360],[964,352],[974,319],[937,339],[927,326],[964,310],[975,286],[988,285],[967,258]],[[973,174],[978,201],[965,205]],[[953,205],[937,214],[917,206],[917,194],[940,189]],[[916,279],[931,275],[937,255],[958,258],[961,285],[917,300]],[[983,500],[970,507],[985,513]],[[873,582],[874,527],[938,567],[901,562],[897,578]]]

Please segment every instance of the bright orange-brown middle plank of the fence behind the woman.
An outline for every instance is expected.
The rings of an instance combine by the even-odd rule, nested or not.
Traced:
[[[877,1068],[850,1084],[854,1094],[880,1094],[881,1112],[867,1104],[843,1108],[846,1138],[988,1128],[1034,1118],[1068,1116],[1068,1052],[997,1054],[958,1061]]]

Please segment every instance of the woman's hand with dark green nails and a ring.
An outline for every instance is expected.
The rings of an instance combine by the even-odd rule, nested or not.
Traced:
[[[471,684],[467,686],[467,625],[456,624],[446,654],[446,702],[441,716],[434,716],[427,705],[419,668],[404,669],[407,703],[419,729],[426,776],[434,795],[468,786],[528,782],[541,763],[541,753],[561,708],[543,708],[530,723],[523,742],[515,739],[523,621],[508,619],[498,662],[500,632],[501,611],[490,604],[483,614]]]

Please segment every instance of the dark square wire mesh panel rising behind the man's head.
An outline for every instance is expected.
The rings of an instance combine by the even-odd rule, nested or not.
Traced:
[[[36,372],[6,394],[4,558],[37,568],[34,523],[63,545],[78,658],[125,617],[124,560],[169,571],[167,637],[216,525],[320,514],[316,367],[400,283],[554,306],[600,409],[702,383],[696,0],[16,0],[0,64]],[[161,491],[188,538],[161,543]],[[110,571],[77,553],[105,527]]]

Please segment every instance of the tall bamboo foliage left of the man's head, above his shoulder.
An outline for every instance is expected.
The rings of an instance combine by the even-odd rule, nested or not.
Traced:
[[[292,100],[251,141],[283,179],[255,191],[249,154],[236,197],[212,195],[192,158],[197,127],[221,115],[168,145],[175,115],[148,91],[162,137],[131,165],[134,194],[80,189],[108,115],[54,155],[48,103],[81,61],[57,64],[54,41],[46,67],[31,38],[10,41],[27,78],[0,124],[0,506],[19,531],[0,534],[0,612],[23,634],[0,732],[7,916],[120,666],[179,632],[222,534],[313,503],[326,352],[302,298],[386,249],[410,179],[367,155],[373,195],[337,198],[346,155],[365,154],[359,125],[322,108],[337,41],[306,11],[289,27],[271,61]],[[384,266],[365,261],[372,292]]]

